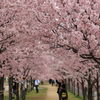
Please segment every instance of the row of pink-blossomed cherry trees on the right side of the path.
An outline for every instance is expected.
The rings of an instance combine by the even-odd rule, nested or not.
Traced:
[[[84,100],[86,99],[86,88],[88,88],[88,100],[93,100],[94,88],[97,91],[97,100],[100,99],[99,5],[100,1],[96,0],[63,1],[63,7],[58,4],[60,9],[58,13],[61,13],[60,18],[63,18],[64,22],[61,21],[53,31],[57,36],[54,48],[69,51],[66,53],[68,58],[65,68],[61,68],[61,70],[65,75],[71,77],[68,80],[72,80],[73,87],[77,82],[78,95],[79,84],[81,84]]]

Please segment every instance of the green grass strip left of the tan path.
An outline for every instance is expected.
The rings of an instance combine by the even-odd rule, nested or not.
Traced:
[[[35,90],[28,92],[26,95],[26,100],[35,100],[35,98],[36,100],[38,100],[38,98],[45,98],[46,93],[47,93],[47,88],[40,86],[39,93],[36,93]],[[8,95],[5,95],[4,100],[8,100]]]

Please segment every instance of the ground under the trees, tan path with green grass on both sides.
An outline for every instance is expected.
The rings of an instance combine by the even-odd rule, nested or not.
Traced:
[[[39,93],[35,90],[27,93],[26,100],[59,100],[57,95],[57,87],[51,85],[41,85],[39,87]],[[72,93],[68,94],[68,100],[82,100],[79,97],[74,96]],[[5,96],[5,100],[8,100],[8,96]]]

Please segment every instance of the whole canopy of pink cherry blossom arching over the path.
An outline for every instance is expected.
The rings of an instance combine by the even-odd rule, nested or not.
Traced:
[[[0,99],[4,77],[67,77],[99,97],[100,0],[2,0]],[[78,90],[79,93],[79,90]]]

